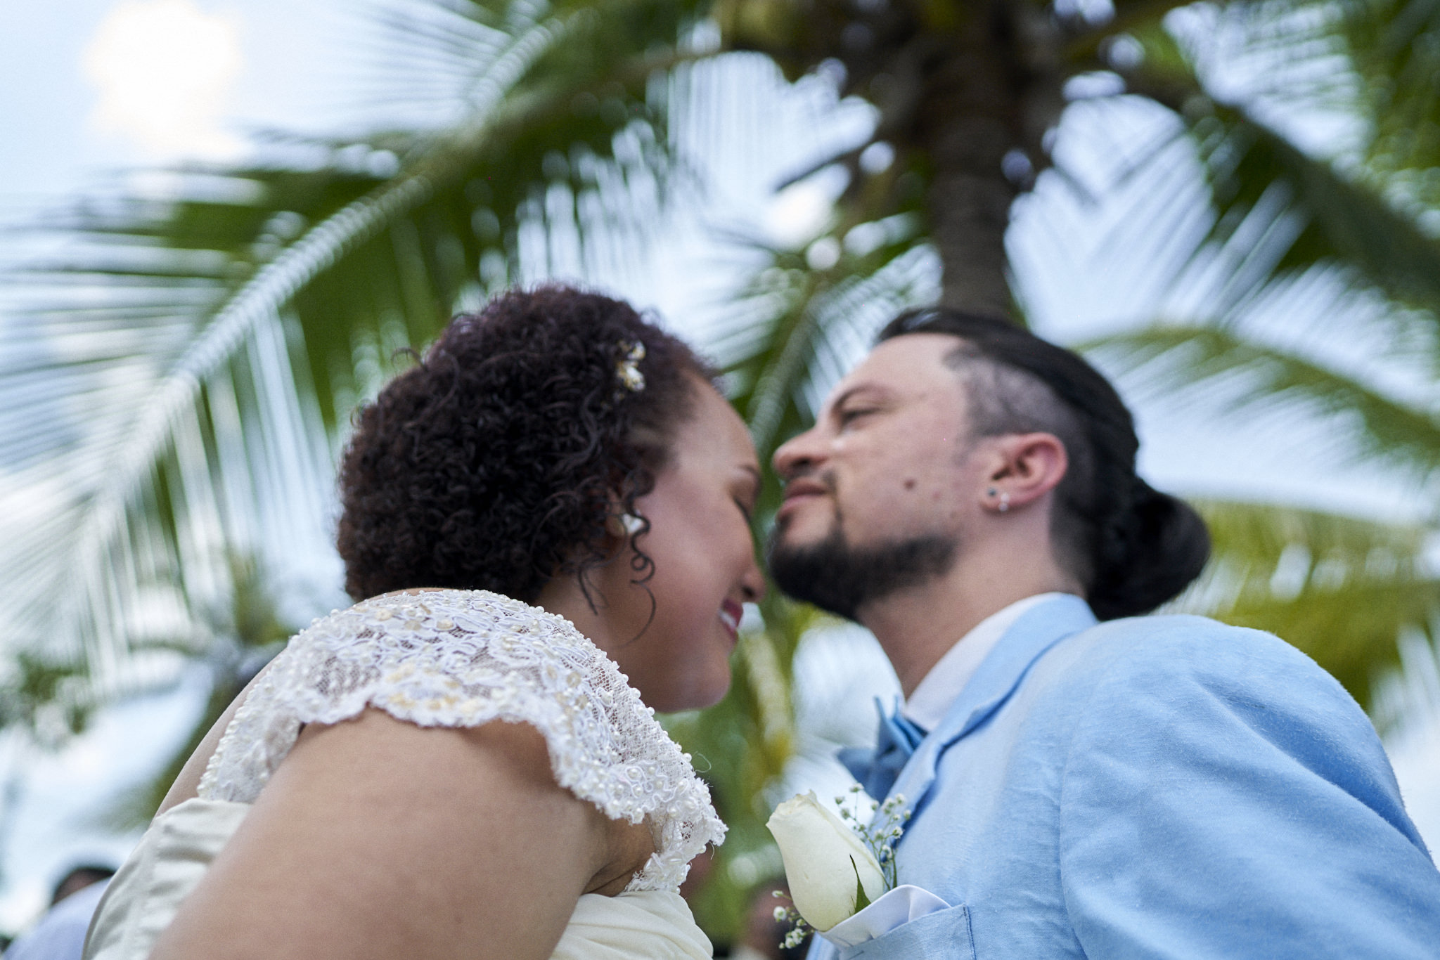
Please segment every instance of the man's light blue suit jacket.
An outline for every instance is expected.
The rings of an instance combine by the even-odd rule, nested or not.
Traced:
[[[811,960],[1440,957],[1440,872],[1313,661],[1192,616],[1028,610],[893,793],[952,904]]]

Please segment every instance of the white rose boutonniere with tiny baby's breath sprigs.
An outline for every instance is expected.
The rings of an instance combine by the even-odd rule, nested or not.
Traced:
[[[858,792],[858,786],[851,789],[852,796]],[[796,921],[786,944],[799,943],[806,925],[829,930],[896,887],[894,843],[901,833],[899,823],[909,818],[901,812],[904,797],[886,800],[877,829],[863,825],[844,806],[845,797],[835,797],[835,803],[840,816],[809,792],[778,806],[766,823],[780,848],[795,904],[793,911],[776,910],[780,920]],[[876,809],[871,803],[870,812]]]

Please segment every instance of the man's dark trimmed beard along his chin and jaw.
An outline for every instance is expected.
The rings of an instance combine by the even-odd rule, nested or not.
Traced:
[[[780,590],[847,620],[873,600],[948,573],[953,561],[955,541],[937,534],[852,547],[840,517],[819,543],[786,547],[776,531],[769,548]]]

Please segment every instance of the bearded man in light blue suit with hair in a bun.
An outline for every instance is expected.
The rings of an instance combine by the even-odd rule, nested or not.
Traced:
[[[1276,638],[1138,617],[1208,537],[1119,396],[1002,321],[901,315],[785,443],[776,581],[904,691],[851,769],[948,910],[812,960],[1436,957],[1440,874],[1355,701]],[[1133,617],[1133,619],[1132,619]]]

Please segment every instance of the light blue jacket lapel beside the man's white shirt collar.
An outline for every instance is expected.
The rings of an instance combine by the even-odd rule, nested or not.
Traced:
[[[953,743],[979,727],[1009,699],[1030,665],[1061,639],[1096,625],[1094,613],[1077,596],[1047,600],[1025,610],[995,643],[965,685],[945,720],[916,747],[896,779],[890,796],[904,794],[906,809],[919,810],[935,783],[935,771]]]

